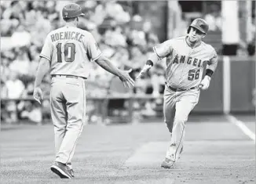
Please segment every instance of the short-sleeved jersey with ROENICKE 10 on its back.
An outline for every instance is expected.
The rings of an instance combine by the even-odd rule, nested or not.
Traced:
[[[40,56],[50,61],[51,75],[88,78],[90,60],[97,60],[101,56],[101,50],[90,32],[64,26],[49,32]]]

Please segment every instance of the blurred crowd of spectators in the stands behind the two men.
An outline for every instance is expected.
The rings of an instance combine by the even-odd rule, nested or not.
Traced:
[[[144,65],[153,45],[159,43],[153,34],[152,23],[133,13],[132,2],[123,1],[2,1],[1,13],[1,98],[31,98],[33,95],[38,56],[49,31],[64,25],[61,9],[69,2],[76,2],[86,16],[79,18],[79,27],[90,31],[96,39],[101,52],[112,60],[115,66],[123,69],[132,68],[135,78]],[[210,31],[221,29],[220,12],[213,7],[204,18],[210,24]],[[185,33],[188,22],[177,30]],[[182,30],[181,30],[182,29]],[[5,38],[8,38],[5,40]],[[255,42],[255,41],[254,41]],[[252,41],[252,46],[255,44]],[[254,44],[254,45],[253,45]],[[14,45],[14,46],[13,46]],[[91,63],[93,71],[86,81],[87,96],[106,96],[127,92],[112,74],[97,64]],[[164,89],[164,62],[157,63],[141,80],[136,82],[130,93],[152,94],[159,96]],[[42,91],[49,97],[50,76],[42,82]],[[121,84],[121,85],[120,85]],[[119,86],[117,88],[117,86]],[[153,110],[159,101],[151,101],[144,106],[144,114],[155,114]],[[122,103],[121,106],[126,106]],[[134,104],[134,108],[141,106]],[[93,111],[93,103],[88,110]],[[49,101],[40,106],[35,101],[2,101],[1,118],[6,122],[29,119],[37,123],[49,118]],[[95,110],[95,109],[94,109]],[[142,113],[143,114],[143,113]]]

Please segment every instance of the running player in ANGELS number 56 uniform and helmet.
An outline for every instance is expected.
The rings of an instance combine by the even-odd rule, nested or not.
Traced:
[[[214,48],[202,41],[208,31],[203,19],[193,20],[184,37],[173,38],[156,45],[137,78],[147,72],[157,60],[166,57],[166,87],[164,91],[164,121],[170,132],[170,146],[161,164],[173,168],[183,150],[185,122],[199,100],[200,88],[210,85],[217,67],[218,56]],[[203,78],[203,66],[207,64]],[[203,80],[201,80],[203,78]]]

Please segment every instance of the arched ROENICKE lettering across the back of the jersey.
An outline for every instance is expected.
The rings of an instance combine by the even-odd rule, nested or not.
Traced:
[[[51,34],[50,37],[52,41],[59,41],[59,40],[76,40],[76,41],[82,41],[82,38],[85,35],[75,32],[75,31],[61,31],[55,34]]]

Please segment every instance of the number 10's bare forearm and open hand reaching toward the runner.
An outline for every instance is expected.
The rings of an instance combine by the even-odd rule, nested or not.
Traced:
[[[95,60],[95,62],[100,65],[104,70],[107,70],[108,72],[115,74],[117,77],[120,78],[121,81],[123,81],[123,85],[125,87],[133,87],[134,81],[132,78],[130,78],[129,73],[132,71],[130,70],[120,70],[119,68],[115,67],[108,58],[105,56],[100,56],[99,59]]]

